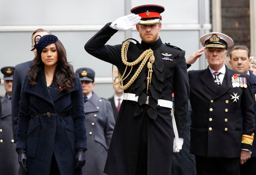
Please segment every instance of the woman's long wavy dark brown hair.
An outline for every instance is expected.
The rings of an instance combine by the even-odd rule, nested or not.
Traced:
[[[67,61],[67,53],[63,44],[58,40],[55,42],[57,52],[58,52],[58,62],[56,69],[54,71],[54,76],[52,82],[58,84],[60,91],[69,91],[74,86],[74,72],[71,65]],[[37,54],[33,64],[31,66],[29,74],[30,85],[35,85],[38,78],[38,73],[44,69],[44,63],[41,58],[41,54]]]

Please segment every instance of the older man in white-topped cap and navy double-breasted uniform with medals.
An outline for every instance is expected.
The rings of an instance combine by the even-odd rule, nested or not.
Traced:
[[[196,156],[197,175],[238,175],[239,163],[250,157],[254,111],[249,76],[224,65],[233,40],[225,34],[200,38],[208,68],[189,71],[192,107],[190,153]],[[243,120],[241,120],[240,112]]]

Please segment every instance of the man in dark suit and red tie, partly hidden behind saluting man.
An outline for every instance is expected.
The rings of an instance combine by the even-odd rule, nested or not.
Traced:
[[[118,82],[118,77],[115,78],[114,82],[115,83]],[[108,100],[111,103],[114,118],[115,118],[115,121],[116,121],[117,116],[118,116],[118,112],[119,112],[120,107],[121,107],[121,103],[122,103],[123,98],[124,98],[124,90],[120,89],[118,84],[114,84],[113,89],[115,91],[115,94],[111,98],[109,98]]]

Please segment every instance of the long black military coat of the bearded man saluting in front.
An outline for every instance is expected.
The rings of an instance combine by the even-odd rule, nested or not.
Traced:
[[[121,74],[125,65],[121,60],[122,45],[104,45],[117,30],[109,27],[108,23],[95,34],[84,46],[92,56],[116,65]],[[158,99],[172,100],[175,93],[175,119],[179,137],[184,137],[188,115],[188,74],[185,61],[185,51],[163,44],[159,38],[156,42],[148,44],[130,43],[127,61],[137,59],[143,51],[151,48],[154,51],[155,62],[151,86],[148,89],[149,105],[144,104],[147,99],[148,68],[145,65],[138,78],[125,93],[139,96],[138,103],[123,100],[112,140],[110,143],[107,162],[104,172],[107,174],[135,174],[140,143],[140,130],[143,118],[147,126],[147,172],[149,175],[169,175],[172,164],[173,128],[170,109],[157,105]],[[170,60],[164,60],[169,55]],[[171,56],[170,56],[171,54]],[[124,80],[126,84],[138,69],[133,66],[129,77]],[[128,68],[130,71],[130,68]],[[146,160],[145,160],[146,161]]]

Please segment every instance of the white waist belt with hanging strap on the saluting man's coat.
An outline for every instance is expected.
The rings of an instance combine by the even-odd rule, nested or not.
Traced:
[[[131,101],[138,102],[138,97],[139,96],[135,96],[135,94],[124,93],[123,100],[131,100]],[[157,102],[159,106],[171,109],[172,127],[173,127],[174,136],[175,136],[175,147],[173,148],[173,152],[179,152],[181,148],[179,147],[179,134],[178,134],[175,118],[174,118],[174,113],[172,110],[172,101],[158,99]],[[145,104],[149,104],[148,98]]]

